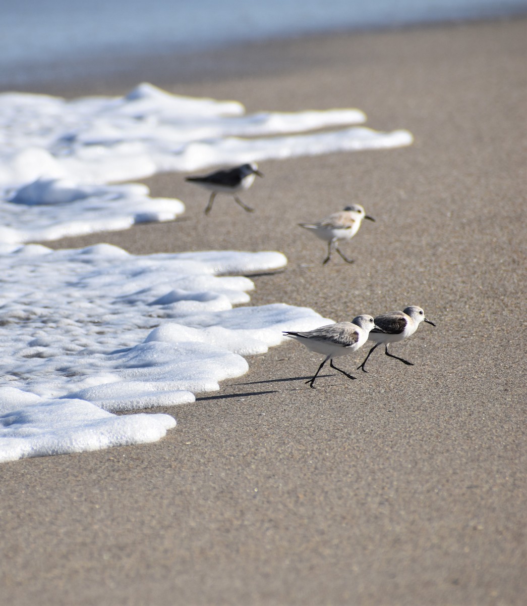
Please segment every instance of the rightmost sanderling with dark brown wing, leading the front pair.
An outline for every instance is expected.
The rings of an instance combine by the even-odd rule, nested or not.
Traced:
[[[370,332],[368,341],[376,341],[376,344],[370,349],[366,359],[357,370],[362,368],[365,373],[368,372],[364,368],[364,364],[366,364],[368,358],[372,355],[373,350],[375,350],[376,347],[379,347],[381,343],[386,345],[385,353],[387,356],[395,358],[396,360],[401,360],[401,362],[404,362],[404,364],[407,364],[408,366],[413,366],[412,362],[398,358],[398,356],[394,356],[393,353],[390,353],[388,351],[388,345],[396,341],[402,341],[402,339],[406,339],[410,335],[413,335],[419,327],[419,324],[423,321],[435,326],[433,322],[430,322],[430,320],[425,318],[425,312],[421,307],[417,307],[416,305],[410,305],[410,307],[405,308],[404,311],[390,311],[388,313],[383,313],[381,316],[376,316],[375,324],[381,327],[382,331],[378,332],[374,329]]]

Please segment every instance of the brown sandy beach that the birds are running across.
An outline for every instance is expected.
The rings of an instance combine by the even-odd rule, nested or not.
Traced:
[[[357,107],[396,150],[263,162],[245,213],[185,175],[146,179],[182,219],[46,242],[131,253],[279,250],[252,305],[335,321],[420,305],[421,325],[356,381],[296,343],[196,402],[160,442],[0,467],[2,606],[520,606],[527,549],[527,21],[314,36],[145,58],[111,81],[236,99],[247,112]],[[241,58],[243,57],[243,61]],[[365,222],[322,266],[297,227],[350,202]],[[189,227],[192,226],[192,227]],[[351,371],[365,346],[344,358]],[[360,374],[359,374],[360,373]]]

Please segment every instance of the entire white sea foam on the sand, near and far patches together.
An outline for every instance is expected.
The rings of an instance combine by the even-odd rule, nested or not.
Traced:
[[[30,242],[185,212],[116,181],[413,141],[366,121],[356,108],[247,115],[237,101],[146,83],[122,97],[0,94],[0,461],[160,439],[173,415],[115,413],[192,402],[243,375],[243,356],[280,344],[283,330],[332,322],[281,302],[247,306],[244,276],[283,268],[277,251],[134,256]]]

